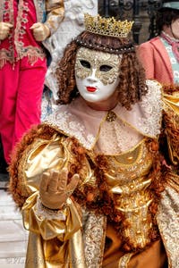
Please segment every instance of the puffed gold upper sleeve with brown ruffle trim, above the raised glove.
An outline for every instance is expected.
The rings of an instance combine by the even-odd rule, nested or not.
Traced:
[[[42,172],[64,167],[71,171],[80,163],[72,154],[72,138],[66,138],[46,124],[32,128],[13,151],[9,166],[9,191],[20,208],[38,190]]]

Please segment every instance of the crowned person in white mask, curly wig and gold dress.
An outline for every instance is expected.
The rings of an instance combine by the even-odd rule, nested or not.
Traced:
[[[61,105],[13,153],[26,267],[176,267],[179,196],[158,153],[161,86],[145,80],[131,21],[84,22],[57,67]]]

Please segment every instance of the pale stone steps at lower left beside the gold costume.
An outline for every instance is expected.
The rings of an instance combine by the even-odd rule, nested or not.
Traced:
[[[20,210],[12,196],[0,190],[0,267],[24,268],[28,230],[22,223]]]

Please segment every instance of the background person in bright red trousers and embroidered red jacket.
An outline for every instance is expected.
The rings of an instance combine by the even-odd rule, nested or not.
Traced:
[[[10,163],[15,143],[40,121],[48,38],[63,21],[64,1],[0,0],[0,5],[0,136]]]

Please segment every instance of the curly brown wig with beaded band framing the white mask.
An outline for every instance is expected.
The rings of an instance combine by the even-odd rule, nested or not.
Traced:
[[[119,74],[120,82],[116,90],[119,92],[119,102],[126,109],[130,110],[133,104],[141,100],[141,96],[147,94],[145,72],[129,39],[112,38],[83,31],[65,47],[64,56],[57,64],[59,104],[69,104],[74,97],[78,96],[74,66],[77,50],[81,46],[111,54],[123,54]]]

